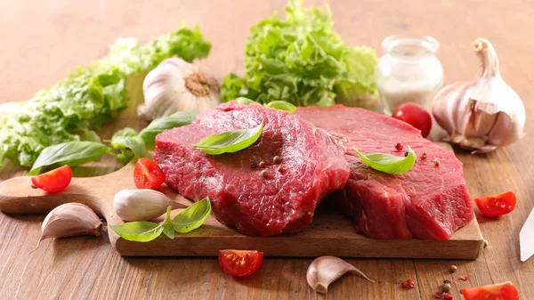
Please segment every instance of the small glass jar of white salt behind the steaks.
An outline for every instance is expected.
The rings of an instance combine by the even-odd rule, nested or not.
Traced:
[[[388,36],[382,48],[375,81],[384,114],[391,116],[404,102],[431,109],[443,85],[443,68],[435,56],[440,43],[431,36]]]

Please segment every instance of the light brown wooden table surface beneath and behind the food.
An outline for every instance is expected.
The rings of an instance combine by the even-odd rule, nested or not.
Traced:
[[[384,36],[414,33],[435,36],[446,82],[471,78],[478,71],[472,42],[489,38],[498,51],[503,77],[534,109],[534,55],[530,46],[534,5],[530,0],[398,1],[332,0],[335,28],[350,45],[370,45],[382,54]],[[320,5],[321,1],[307,4]],[[180,20],[198,24],[213,43],[201,65],[215,77],[242,72],[245,38],[256,21],[282,12],[284,0],[166,1],[2,1],[0,2],[0,102],[24,101],[37,90],[65,77],[69,69],[107,53],[117,36],[142,42],[166,34]],[[131,124],[121,118],[106,126],[109,136]],[[305,280],[312,259],[266,258],[259,272],[246,279],[223,273],[209,258],[123,258],[109,247],[107,237],[48,239],[34,251],[44,215],[0,214],[0,298],[2,299],[433,299],[443,280],[460,288],[510,280],[522,299],[534,299],[534,259],[519,260],[519,231],[534,199],[534,122],[527,135],[495,153],[471,156],[457,153],[471,195],[513,190],[519,203],[511,215],[498,219],[478,214],[490,247],[476,261],[350,259],[351,264],[377,280],[369,283],[346,276],[327,296],[316,294]],[[78,168],[78,174],[115,170],[113,159],[97,167]],[[24,170],[0,169],[0,181]],[[534,238],[534,237],[533,237]],[[431,249],[432,250],[432,249]],[[450,274],[450,264],[458,272]],[[458,280],[468,276],[468,281]],[[403,290],[401,281],[417,286]]]

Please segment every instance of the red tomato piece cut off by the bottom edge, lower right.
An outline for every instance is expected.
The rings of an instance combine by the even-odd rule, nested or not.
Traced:
[[[519,293],[512,282],[460,290],[465,300],[519,300]]]

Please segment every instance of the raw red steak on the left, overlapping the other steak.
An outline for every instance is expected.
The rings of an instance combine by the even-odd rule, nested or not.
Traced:
[[[245,150],[211,156],[191,147],[207,135],[262,122],[262,136]],[[170,186],[195,201],[209,197],[217,220],[254,236],[301,231],[349,177],[337,138],[286,111],[235,101],[158,134],[154,158]]]

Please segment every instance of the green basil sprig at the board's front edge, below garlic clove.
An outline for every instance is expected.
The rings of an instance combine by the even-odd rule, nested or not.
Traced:
[[[211,214],[209,198],[202,199],[187,207],[182,213],[171,220],[171,207],[167,207],[165,220],[161,223],[129,222],[110,225],[111,229],[123,239],[138,242],[148,242],[158,238],[161,233],[169,239],[174,239],[175,232],[187,233],[200,227]]]

